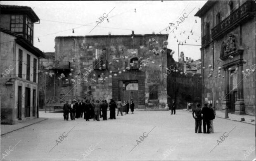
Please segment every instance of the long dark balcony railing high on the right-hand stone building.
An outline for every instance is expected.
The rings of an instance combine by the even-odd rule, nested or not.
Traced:
[[[211,29],[212,39],[218,40],[222,38],[225,33],[232,31],[239,24],[251,19],[255,16],[255,3],[252,0],[245,2],[238,9],[230,14],[229,17],[221,21]]]

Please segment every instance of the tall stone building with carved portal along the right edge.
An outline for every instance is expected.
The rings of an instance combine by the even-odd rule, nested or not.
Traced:
[[[207,1],[201,18],[202,102],[255,116],[255,2]]]

